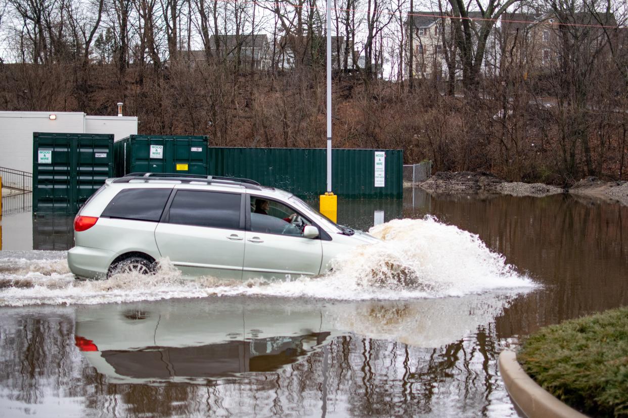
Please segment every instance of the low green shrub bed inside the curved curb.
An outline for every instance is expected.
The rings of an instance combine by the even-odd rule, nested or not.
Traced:
[[[517,355],[539,385],[595,417],[628,417],[628,308],[541,328]]]

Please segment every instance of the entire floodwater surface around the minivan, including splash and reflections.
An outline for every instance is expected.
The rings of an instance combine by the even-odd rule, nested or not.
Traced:
[[[408,189],[338,209],[384,243],[281,283],[79,282],[70,218],[4,216],[0,416],[517,416],[499,352],[628,304],[628,207]]]

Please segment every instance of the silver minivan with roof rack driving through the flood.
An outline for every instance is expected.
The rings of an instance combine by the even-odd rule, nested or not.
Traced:
[[[338,226],[298,197],[247,179],[129,174],[78,212],[72,273],[149,273],[159,258],[220,278],[316,275],[347,249],[379,240]]]

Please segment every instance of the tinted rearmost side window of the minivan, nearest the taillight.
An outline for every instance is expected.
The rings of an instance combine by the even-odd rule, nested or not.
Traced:
[[[159,221],[172,189],[124,189],[112,199],[100,216]]]

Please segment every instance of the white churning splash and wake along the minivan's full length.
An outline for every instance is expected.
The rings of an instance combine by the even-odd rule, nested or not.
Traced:
[[[404,300],[524,291],[533,281],[506,264],[475,234],[434,217],[399,219],[371,228],[382,243],[360,246],[332,261],[318,277],[285,280],[185,278],[168,259],[157,274],[116,274],[77,281],[67,254],[5,252],[0,258],[0,306],[122,303],[205,296],[280,296],[331,300]]]

